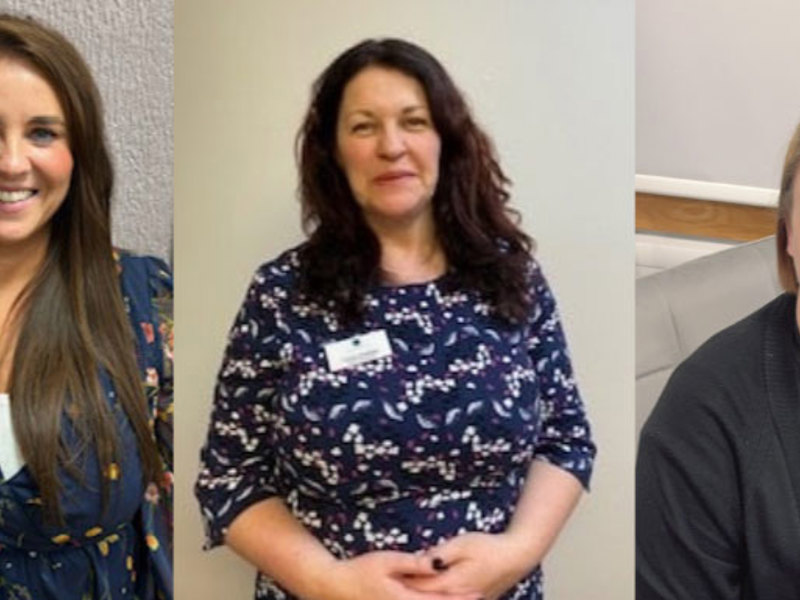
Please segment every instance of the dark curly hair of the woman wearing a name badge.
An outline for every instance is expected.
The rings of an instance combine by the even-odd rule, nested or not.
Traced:
[[[509,322],[531,304],[527,272],[532,240],[508,207],[510,181],[444,67],[427,51],[399,39],[366,40],[341,54],[312,88],[297,137],[299,195],[309,239],[300,253],[300,293],[332,306],[348,323],[363,313],[370,286],[380,283],[380,245],[336,161],[336,125],[345,86],[368,66],[396,69],[425,90],[441,139],[433,196],[436,234],[448,263],[449,288],[477,290]]]

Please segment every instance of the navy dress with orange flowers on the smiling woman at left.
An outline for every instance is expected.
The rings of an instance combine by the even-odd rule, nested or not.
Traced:
[[[158,259],[124,253],[116,258],[163,476],[142,485],[135,435],[101,372],[119,426],[120,464],[101,468],[90,456],[85,483],[64,476],[64,526],[43,522],[38,489],[27,468],[0,472],[3,600],[172,598],[172,278]],[[64,435],[70,439],[66,424]],[[111,481],[105,513],[101,476]]]

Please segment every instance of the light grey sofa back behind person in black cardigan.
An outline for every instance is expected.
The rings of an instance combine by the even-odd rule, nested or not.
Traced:
[[[781,293],[775,238],[636,280],[636,431],[678,364]]]

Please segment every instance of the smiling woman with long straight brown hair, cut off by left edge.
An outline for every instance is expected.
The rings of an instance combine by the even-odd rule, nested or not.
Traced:
[[[0,597],[171,597],[171,277],[111,245],[89,69],[0,14]]]

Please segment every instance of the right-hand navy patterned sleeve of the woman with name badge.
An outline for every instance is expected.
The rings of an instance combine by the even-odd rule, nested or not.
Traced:
[[[555,298],[535,262],[531,285],[534,304],[528,352],[540,393],[535,457],[572,473],[588,489],[596,448],[573,376]]]

